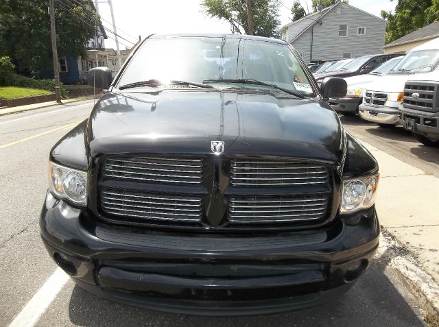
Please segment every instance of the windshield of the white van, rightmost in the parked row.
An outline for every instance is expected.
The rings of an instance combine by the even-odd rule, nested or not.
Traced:
[[[427,73],[433,71],[439,63],[439,50],[420,50],[407,53],[392,73]]]

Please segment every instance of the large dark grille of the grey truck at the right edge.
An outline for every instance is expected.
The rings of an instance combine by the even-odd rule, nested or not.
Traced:
[[[420,111],[438,112],[438,97],[435,99],[437,83],[407,82],[404,88],[403,103],[406,108]],[[415,97],[413,95],[415,94]],[[436,101],[435,101],[436,100]]]

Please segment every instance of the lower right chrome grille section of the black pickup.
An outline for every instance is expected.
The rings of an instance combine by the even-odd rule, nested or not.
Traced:
[[[233,197],[228,220],[231,223],[314,221],[327,214],[329,195],[285,197]]]

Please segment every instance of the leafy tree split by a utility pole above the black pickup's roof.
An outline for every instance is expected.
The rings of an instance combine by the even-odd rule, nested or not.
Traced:
[[[244,0],[203,0],[204,14],[224,19],[233,32],[248,33],[247,6]],[[278,0],[252,0],[253,34],[278,36]]]

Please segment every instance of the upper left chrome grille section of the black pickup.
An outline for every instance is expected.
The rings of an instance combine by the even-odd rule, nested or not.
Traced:
[[[148,184],[196,185],[202,180],[202,160],[126,156],[108,158],[104,177]]]

